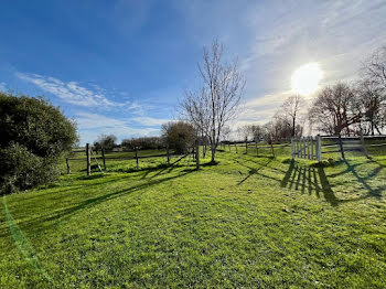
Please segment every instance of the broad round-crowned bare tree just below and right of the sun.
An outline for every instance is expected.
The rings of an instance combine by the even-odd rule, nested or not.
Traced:
[[[310,121],[326,133],[339,136],[345,132],[350,136],[350,126],[362,118],[362,113],[356,107],[355,90],[346,84],[337,83],[318,94],[309,111]]]

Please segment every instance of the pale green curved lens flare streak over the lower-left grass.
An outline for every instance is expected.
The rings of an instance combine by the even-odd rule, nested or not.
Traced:
[[[36,255],[35,250],[33,249],[31,242],[23,234],[23,232],[20,229],[17,222],[12,217],[10,211],[8,210],[6,196],[2,197],[2,202],[4,204],[6,217],[7,217],[8,225],[9,225],[12,238],[13,238],[14,243],[17,244],[19,251],[24,257],[26,263],[29,263],[32,267],[34,267],[39,274],[41,274],[46,280],[53,282],[52,278],[44,270],[42,264],[40,263],[37,255]]]

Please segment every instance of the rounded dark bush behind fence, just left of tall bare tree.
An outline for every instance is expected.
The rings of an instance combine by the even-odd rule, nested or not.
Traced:
[[[178,153],[186,153],[187,148],[193,146],[196,139],[196,131],[189,122],[170,121],[162,125],[162,137],[169,148],[174,149]]]

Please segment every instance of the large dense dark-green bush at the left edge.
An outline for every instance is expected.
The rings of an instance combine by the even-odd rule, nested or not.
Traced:
[[[56,179],[61,157],[77,142],[75,122],[44,98],[0,93],[0,193]]]

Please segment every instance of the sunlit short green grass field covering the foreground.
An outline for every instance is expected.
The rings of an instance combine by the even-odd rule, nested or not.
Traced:
[[[243,152],[200,171],[150,158],[86,176],[73,161],[3,197],[0,288],[385,288],[385,153]]]

